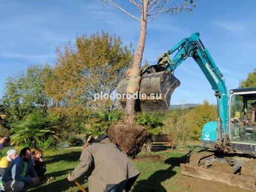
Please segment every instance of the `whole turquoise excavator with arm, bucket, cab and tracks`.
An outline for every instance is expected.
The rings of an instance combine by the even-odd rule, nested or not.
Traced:
[[[174,55],[170,58],[170,55]],[[180,164],[181,174],[231,186],[255,190],[256,184],[256,87],[227,91],[224,76],[216,66],[199,33],[182,39],[162,54],[156,65],[140,71],[136,111],[164,111],[180,81],[173,75],[176,68],[192,57],[211,84],[217,100],[218,118],[202,128],[204,150],[190,155],[188,163]],[[117,92],[126,94],[127,79],[117,85]],[[156,97],[156,95],[161,97]],[[126,100],[120,100],[122,107]]]

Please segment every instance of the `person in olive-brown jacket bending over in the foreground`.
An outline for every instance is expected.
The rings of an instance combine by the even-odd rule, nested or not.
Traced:
[[[101,135],[85,147],[80,162],[68,176],[74,181],[94,165],[88,177],[89,192],[130,191],[139,176],[139,171],[127,155],[116,144],[111,143],[109,136]]]

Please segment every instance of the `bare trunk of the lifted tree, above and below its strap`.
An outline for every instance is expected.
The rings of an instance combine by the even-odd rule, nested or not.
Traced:
[[[147,34],[147,8],[149,6],[149,1],[144,0],[143,1],[143,11],[142,11],[142,19],[140,19],[140,36],[139,36],[139,42],[137,44],[136,54],[134,55],[133,59],[133,68],[140,69],[140,66],[142,65],[142,57],[143,57],[143,51],[145,47],[145,41],[146,41],[146,34]],[[130,81],[130,80],[129,80]],[[129,93],[127,93],[129,94]],[[129,97],[131,98],[131,97]],[[134,110],[135,107],[135,100],[132,97],[131,99],[126,101],[126,108],[125,108],[125,114],[124,114],[124,122],[125,123],[134,123]]]

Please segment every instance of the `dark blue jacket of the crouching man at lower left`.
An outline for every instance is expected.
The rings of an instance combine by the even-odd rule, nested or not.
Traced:
[[[26,176],[31,177],[23,177],[21,176],[23,170],[23,160],[21,157],[15,158],[12,163],[6,168],[4,176],[2,177],[2,181],[8,182],[11,180],[22,181],[26,184],[31,183],[31,177],[37,177],[37,173],[35,172],[35,168],[32,164],[32,160],[28,160],[27,174]]]

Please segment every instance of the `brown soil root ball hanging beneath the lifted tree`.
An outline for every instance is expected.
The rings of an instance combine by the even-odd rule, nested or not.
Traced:
[[[141,125],[124,123],[119,121],[114,123],[108,131],[113,143],[119,145],[130,157],[139,153],[140,148],[147,138],[146,128]]]

